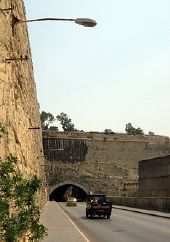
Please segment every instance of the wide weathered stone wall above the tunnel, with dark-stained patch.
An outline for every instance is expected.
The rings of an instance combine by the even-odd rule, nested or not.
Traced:
[[[51,191],[57,184],[119,195],[120,184],[138,179],[138,163],[170,154],[170,139],[103,133],[44,132],[44,152]]]

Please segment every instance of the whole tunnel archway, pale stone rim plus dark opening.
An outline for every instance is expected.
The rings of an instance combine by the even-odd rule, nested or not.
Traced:
[[[77,199],[77,201],[84,201],[87,197],[87,194],[88,190],[80,184],[72,181],[65,181],[51,187],[49,200],[63,202],[66,200],[67,196],[73,196]]]

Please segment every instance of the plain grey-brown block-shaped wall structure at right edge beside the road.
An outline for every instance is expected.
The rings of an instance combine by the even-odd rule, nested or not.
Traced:
[[[170,197],[170,156],[139,162],[139,193]]]

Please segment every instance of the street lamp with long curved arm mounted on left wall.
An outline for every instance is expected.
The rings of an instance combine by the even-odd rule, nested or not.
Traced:
[[[95,20],[90,18],[76,18],[76,19],[69,19],[69,18],[39,18],[39,19],[27,19],[21,20],[17,17],[13,16],[13,24],[20,24],[20,23],[30,23],[30,22],[40,22],[40,21],[70,21],[75,22],[76,24],[83,25],[84,27],[94,27],[97,23]]]

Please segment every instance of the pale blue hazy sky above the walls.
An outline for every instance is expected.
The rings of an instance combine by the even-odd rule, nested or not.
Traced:
[[[75,128],[170,137],[169,0],[25,0],[40,111],[66,113]],[[53,125],[60,125],[55,123]]]

